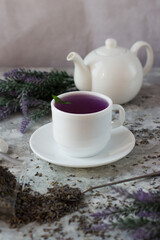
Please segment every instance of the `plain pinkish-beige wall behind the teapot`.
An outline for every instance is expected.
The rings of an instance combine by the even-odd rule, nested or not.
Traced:
[[[108,37],[149,42],[160,66],[160,0],[0,0],[0,67],[72,66]]]

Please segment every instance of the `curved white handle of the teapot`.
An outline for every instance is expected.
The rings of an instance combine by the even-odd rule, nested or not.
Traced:
[[[143,75],[146,75],[153,65],[154,57],[153,57],[152,47],[147,42],[139,41],[139,42],[136,42],[135,44],[133,44],[133,46],[131,47],[130,50],[132,53],[137,55],[137,53],[141,47],[145,47],[146,53],[147,53],[146,63],[143,68]]]

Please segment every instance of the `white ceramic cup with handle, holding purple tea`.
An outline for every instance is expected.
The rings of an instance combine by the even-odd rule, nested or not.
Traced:
[[[84,94],[105,100],[108,107],[93,113],[68,113],[59,110],[55,100],[51,101],[53,137],[57,146],[65,154],[72,157],[91,157],[102,151],[111,137],[111,130],[120,127],[125,120],[122,106],[112,104],[112,100],[91,91],[75,91],[59,95],[63,100],[66,96]],[[112,110],[119,112],[118,119],[112,121]]]

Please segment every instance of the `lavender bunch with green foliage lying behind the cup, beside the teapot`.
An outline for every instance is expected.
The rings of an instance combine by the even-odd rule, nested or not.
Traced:
[[[65,71],[36,71],[24,68],[4,73],[0,80],[0,121],[15,112],[23,114],[20,131],[50,113],[52,94],[76,90]]]

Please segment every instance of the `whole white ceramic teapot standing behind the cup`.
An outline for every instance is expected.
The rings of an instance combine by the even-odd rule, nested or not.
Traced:
[[[145,47],[147,60],[144,68],[137,57]],[[105,46],[90,52],[84,59],[75,52],[67,56],[75,65],[74,81],[79,90],[100,92],[113,103],[123,104],[139,92],[143,76],[153,64],[153,50],[143,41],[136,42],[130,50],[117,46],[115,39],[107,39]]]

